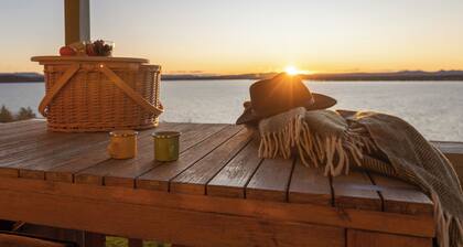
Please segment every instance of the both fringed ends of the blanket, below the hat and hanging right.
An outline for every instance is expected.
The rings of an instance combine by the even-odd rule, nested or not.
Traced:
[[[335,176],[343,172],[347,174],[349,162],[362,167],[364,153],[380,151],[368,135],[368,130],[362,126],[349,126],[343,132],[327,135],[311,130],[303,114],[295,114],[284,122],[287,124],[282,129],[260,132],[260,158],[281,155],[289,159],[294,151],[304,165],[324,167],[325,175]],[[429,187],[422,189],[428,190],[434,203],[439,246],[463,247],[463,221],[444,210],[435,191],[429,191]]]

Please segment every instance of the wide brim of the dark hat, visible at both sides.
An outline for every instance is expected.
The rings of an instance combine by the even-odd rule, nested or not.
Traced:
[[[312,93],[312,97],[313,97],[314,103],[313,104],[309,103],[305,106],[305,109],[308,110],[321,110],[321,109],[326,109],[336,105],[336,99],[326,95]],[[246,108],[245,111],[241,114],[241,116],[238,117],[238,119],[236,120],[236,125],[243,125],[243,124],[252,125],[252,124],[257,124],[257,121],[260,119],[261,117],[256,115],[256,112],[252,110],[252,107],[249,107],[249,108]]]

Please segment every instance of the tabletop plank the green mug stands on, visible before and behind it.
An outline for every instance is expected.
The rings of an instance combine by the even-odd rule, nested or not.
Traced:
[[[212,135],[220,131],[225,128],[225,125],[195,125],[194,128],[191,127],[191,124],[186,126],[191,129],[185,129],[183,135],[181,136],[181,147],[180,153],[185,152],[186,150],[191,149],[195,144],[205,141]],[[152,170],[153,168],[160,165],[162,162],[157,162],[153,157],[153,147],[150,144],[150,154],[151,155],[143,155],[141,160],[137,161],[134,165],[129,168],[125,168],[121,170],[114,170],[105,175],[105,185],[110,186],[134,186],[136,178],[144,174],[146,172]],[[150,159],[151,158],[151,159]],[[148,164],[148,165],[144,165]]]

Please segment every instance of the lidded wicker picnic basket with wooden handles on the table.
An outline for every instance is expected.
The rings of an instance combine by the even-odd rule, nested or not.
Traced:
[[[44,65],[39,111],[63,132],[147,129],[159,122],[160,66],[122,57],[32,57]]]

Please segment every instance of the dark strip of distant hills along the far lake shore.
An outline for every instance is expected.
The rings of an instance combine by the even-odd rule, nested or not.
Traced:
[[[206,75],[206,74],[163,74],[164,80],[195,79],[261,79],[274,76],[277,73],[254,73],[240,75]],[[463,80],[463,71],[401,71],[388,73],[341,73],[300,75],[303,79],[313,80]],[[39,73],[0,73],[0,83],[43,82]]]

